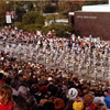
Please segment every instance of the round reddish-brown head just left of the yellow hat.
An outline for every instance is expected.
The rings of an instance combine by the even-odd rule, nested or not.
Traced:
[[[55,110],[64,110],[64,108],[65,108],[65,102],[61,98],[56,98],[54,100],[54,105],[55,105]]]

